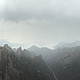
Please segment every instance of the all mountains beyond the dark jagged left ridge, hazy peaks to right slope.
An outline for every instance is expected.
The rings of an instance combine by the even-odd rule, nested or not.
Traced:
[[[60,43],[54,50],[36,46],[28,50],[42,55],[56,80],[80,80],[80,41]]]

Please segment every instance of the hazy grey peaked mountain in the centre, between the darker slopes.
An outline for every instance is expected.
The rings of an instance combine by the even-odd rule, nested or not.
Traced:
[[[32,46],[28,48],[29,51],[36,53],[36,55],[41,55],[44,60],[47,60],[48,56],[50,56],[53,52],[51,49],[46,47],[39,48],[37,46]]]

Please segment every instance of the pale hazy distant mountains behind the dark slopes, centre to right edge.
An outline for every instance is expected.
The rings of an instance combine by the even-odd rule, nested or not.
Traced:
[[[62,43],[56,45],[55,49],[64,48],[64,47],[71,48],[71,47],[77,47],[77,46],[80,46],[80,41],[75,41],[75,42],[72,42],[72,43],[67,43],[67,42],[64,43],[64,42],[62,42]],[[30,48],[28,48],[27,50],[34,52],[37,56],[38,55],[42,55],[42,58],[44,60],[47,60],[49,58],[49,56],[51,54],[53,54],[53,51],[55,49],[52,50],[52,49],[49,49],[47,47],[39,48],[39,47],[34,45],[34,46],[31,46]]]

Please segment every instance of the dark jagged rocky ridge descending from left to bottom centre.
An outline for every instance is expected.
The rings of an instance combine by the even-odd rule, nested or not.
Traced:
[[[55,80],[41,55],[31,54],[21,47],[16,52],[8,45],[0,47],[0,80]]]

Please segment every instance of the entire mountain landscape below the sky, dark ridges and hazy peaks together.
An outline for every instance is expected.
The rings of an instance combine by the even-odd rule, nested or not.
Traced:
[[[56,49],[0,47],[0,80],[80,80],[80,42]]]

